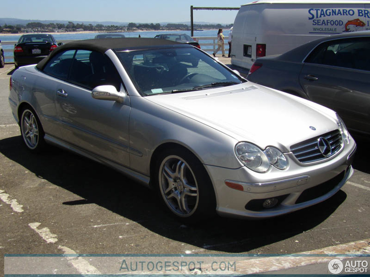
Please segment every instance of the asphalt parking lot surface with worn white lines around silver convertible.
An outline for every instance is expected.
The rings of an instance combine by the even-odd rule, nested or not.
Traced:
[[[369,140],[353,177],[321,204],[268,220],[188,226],[147,188],[65,150],[31,154],[10,112],[13,66],[0,69],[0,255],[291,254],[370,241]],[[0,261],[0,272],[4,263]]]

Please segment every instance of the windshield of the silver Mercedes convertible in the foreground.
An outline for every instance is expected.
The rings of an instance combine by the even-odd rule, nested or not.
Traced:
[[[143,96],[246,82],[193,47],[123,51],[117,55]]]

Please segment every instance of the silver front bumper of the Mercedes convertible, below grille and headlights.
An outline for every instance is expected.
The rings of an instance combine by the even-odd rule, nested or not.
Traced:
[[[215,188],[216,210],[227,217],[270,218],[322,202],[336,194],[353,174],[355,151],[356,143],[351,139],[339,155],[323,163],[302,165],[291,156],[288,170],[273,168],[266,173],[205,165]],[[236,185],[231,188],[226,182]],[[275,206],[263,208],[266,199],[274,198]]]

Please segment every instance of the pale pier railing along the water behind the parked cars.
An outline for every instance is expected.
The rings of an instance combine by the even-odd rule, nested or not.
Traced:
[[[193,39],[199,42],[199,45],[201,45],[201,49],[205,52],[212,53],[217,49],[217,37],[193,37]],[[229,44],[227,40],[228,40],[228,37],[225,37],[226,54],[228,53],[228,49],[229,49]],[[58,42],[63,42],[63,44],[67,42],[71,42],[71,41],[74,41],[74,40],[58,40]],[[14,51],[14,44],[16,43],[17,41],[1,41],[1,45],[3,46],[3,50],[4,50],[5,62],[7,64],[14,64],[13,51]]]

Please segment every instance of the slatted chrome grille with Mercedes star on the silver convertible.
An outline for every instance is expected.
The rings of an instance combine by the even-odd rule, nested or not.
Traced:
[[[322,137],[329,141],[330,148],[332,150],[330,155],[326,157],[321,153],[318,145],[318,141]],[[290,147],[290,151],[292,151],[298,161],[306,164],[329,158],[337,153],[340,148],[342,148],[342,135],[340,134],[339,130],[335,130],[294,144]]]

